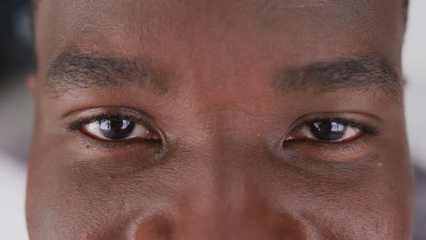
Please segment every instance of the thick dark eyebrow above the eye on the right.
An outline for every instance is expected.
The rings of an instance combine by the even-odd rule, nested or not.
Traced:
[[[279,70],[273,86],[280,92],[306,91],[326,93],[345,88],[380,89],[385,94],[400,96],[403,82],[396,68],[375,55],[339,58]]]

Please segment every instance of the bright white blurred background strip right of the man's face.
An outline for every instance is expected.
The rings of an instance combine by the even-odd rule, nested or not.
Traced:
[[[412,158],[426,169],[426,1],[411,0],[403,52],[406,114]]]

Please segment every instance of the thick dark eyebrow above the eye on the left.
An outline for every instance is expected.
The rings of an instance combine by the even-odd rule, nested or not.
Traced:
[[[155,85],[167,90],[167,73],[148,59],[127,59],[71,48],[49,66],[44,89],[48,94],[125,84]]]

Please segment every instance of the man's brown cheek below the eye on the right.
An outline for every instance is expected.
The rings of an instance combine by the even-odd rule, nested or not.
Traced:
[[[409,239],[411,165],[403,153],[363,165],[283,165],[259,178],[259,189],[277,212],[299,219],[308,239]]]

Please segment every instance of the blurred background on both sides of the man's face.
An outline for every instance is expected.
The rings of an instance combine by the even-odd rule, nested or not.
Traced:
[[[425,0],[411,0],[403,52],[408,132],[417,181],[414,240],[426,239],[425,10]],[[25,0],[0,0],[0,235],[11,240],[27,239],[25,172],[34,106],[25,78],[35,65],[28,13]]]

